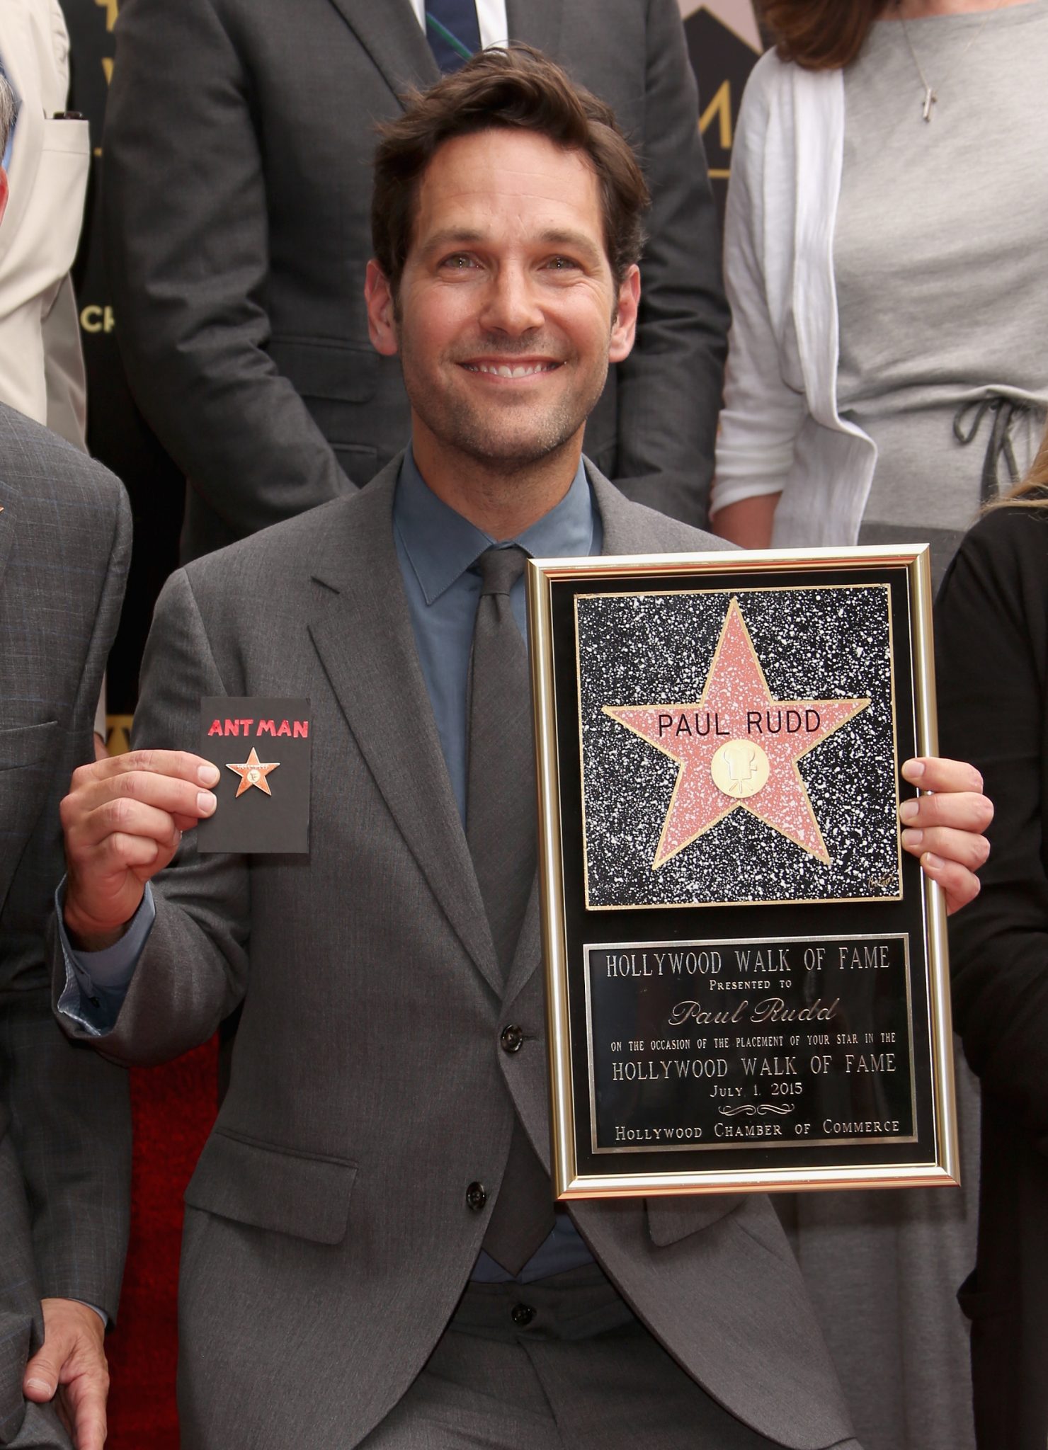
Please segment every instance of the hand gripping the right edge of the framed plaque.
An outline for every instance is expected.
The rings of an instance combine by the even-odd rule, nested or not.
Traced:
[[[903,779],[929,792],[899,808],[903,847],[942,887],[947,911],[960,911],[978,895],[976,871],[990,854],[983,831],[993,821],[993,802],[983,795],[983,777],[961,760],[922,755],[906,761]]]

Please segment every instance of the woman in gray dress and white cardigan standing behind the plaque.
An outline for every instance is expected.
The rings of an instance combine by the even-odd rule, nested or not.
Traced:
[[[1048,405],[1048,0],[765,0],[732,152],[713,528],[929,541],[932,580],[1029,465]],[[783,1199],[870,1450],[970,1450],[961,1192]],[[858,1312],[858,1305],[862,1306]]]

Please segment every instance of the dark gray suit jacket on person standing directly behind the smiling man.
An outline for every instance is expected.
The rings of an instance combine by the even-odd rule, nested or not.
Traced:
[[[654,196],[636,347],[586,451],[702,523],[728,312],[677,0],[507,0],[507,17],[615,107]],[[120,6],[107,255],[132,390],[190,478],[183,557],[367,483],[407,442],[400,364],[364,309],[373,128],[438,75],[409,0]]]

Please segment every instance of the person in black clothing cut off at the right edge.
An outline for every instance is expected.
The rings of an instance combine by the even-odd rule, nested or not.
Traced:
[[[954,1022],[983,1086],[971,1315],[980,1450],[1048,1443],[1048,435],[967,535],[936,605],[944,745],[994,793],[983,890],[952,922]]]

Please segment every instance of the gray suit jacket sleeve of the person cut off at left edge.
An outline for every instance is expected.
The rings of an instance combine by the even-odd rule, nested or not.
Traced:
[[[101,474],[97,465],[77,458],[81,467]],[[94,703],[116,634],[130,554],[126,497],[112,477],[106,476],[106,484],[104,506],[90,516],[74,512],[75,500],[67,500],[70,534],[75,521],[70,548],[86,564],[101,557],[101,584],[91,602],[97,613],[75,700],[68,715],[59,712],[65,744],[55,757],[39,818],[3,905],[0,1067],[29,1206],[36,1288],[45,1296],[84,1299],[116,1318],[130,1201],[128,1077],[57,1030],[45,945],[51,893],[62,873],[58,802],[68,789],[71,767],[94,757]]]

